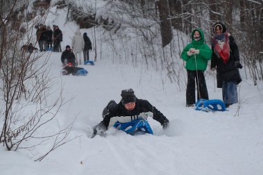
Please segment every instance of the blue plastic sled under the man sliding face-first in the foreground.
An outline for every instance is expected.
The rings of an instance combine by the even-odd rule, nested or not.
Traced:
[[[131,122],[116,122],[114,124],[114,127],[116,127],[119,130],[125,131],[126,133],[129,133],[131,135],[134,135],[136,131],[142,131],[145,133],[151,133],[154,134],[152,131],[152,128],[149,126],[149,123],[146,120],[132,120]]]

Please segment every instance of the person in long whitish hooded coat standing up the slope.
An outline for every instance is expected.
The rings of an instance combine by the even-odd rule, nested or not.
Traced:
[[[73,53],[75,54],[75,61],[76,64],[80,65],[82,64],[81,60],[82,60],[82,50],[84,49],[84,39],[80,33],[80,30],[77,30],[75,32],[75,35],[72,38],[72,43],[71,46],[73,48]]]

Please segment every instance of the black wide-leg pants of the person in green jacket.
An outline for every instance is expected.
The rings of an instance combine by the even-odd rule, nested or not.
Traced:
[[[188,82],[186,89],[186,104],[195,104],[195,81],[197,82],[197,100],[208,99],[208,89],[203,71],[187,70]]]

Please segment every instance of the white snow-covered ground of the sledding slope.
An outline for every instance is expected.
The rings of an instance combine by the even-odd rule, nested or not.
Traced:
[[[77,26],[63,20],[48,21],[64,33],[62,47],[71,45]],[[93,30],[81,30],[91,37]],[[94,57],[91,52],[91,58]],[[46,153],[51,144],[32,151],[6,151],[0,147],[0,174],[185,174],[185,175],[261,175],[263,173],[263,84],[253,86],[245,80],[238,86],[239,104],[228,111],[203,112],[185,107],[185,91],[176,84],[162,82],[160,72],[142,71],[133,66],[112,64],[111,59],[98,59],[95,66],[84,66],[87,76],[62,76],[61,53],[50,55],[51,75],[57,86],[63,86],[64,97],[73,100],[57,113],[60,127],[75,119],[71,138],[80,136],[51,152],[41,162],[34,160]],[[181,60],[183,62],[183,60]],[[183,70],[185,71],[185,70]],[[241,70],[244,75],[244,69]],[[221,100],[221,89],[206,77],[210,99]],[[130,136],[109,129],[107,136],[89,138],[91,127],[102,120],[102,109],[109,100],[120,101],[120,91],[132,88],[137,98],[146,99],[169,120],[170,128],[149,118],[154,135]],[[49,100],[54,101],[58,93]],[[57,122],[46,131],[58,129]]]

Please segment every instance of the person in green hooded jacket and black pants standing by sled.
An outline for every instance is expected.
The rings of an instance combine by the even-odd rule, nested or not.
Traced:
[[[193,30],[191,37],[192,42],[183,48],[181,53],[181,58],[186,62],[185,69],[188,74],[186,107],[192,107],[195,104],[195,80],[197,82],[197,100],[209,100],[203,72],[206,71],[208,60],[211,59],[212,50],[204,43],[202,30]]]

